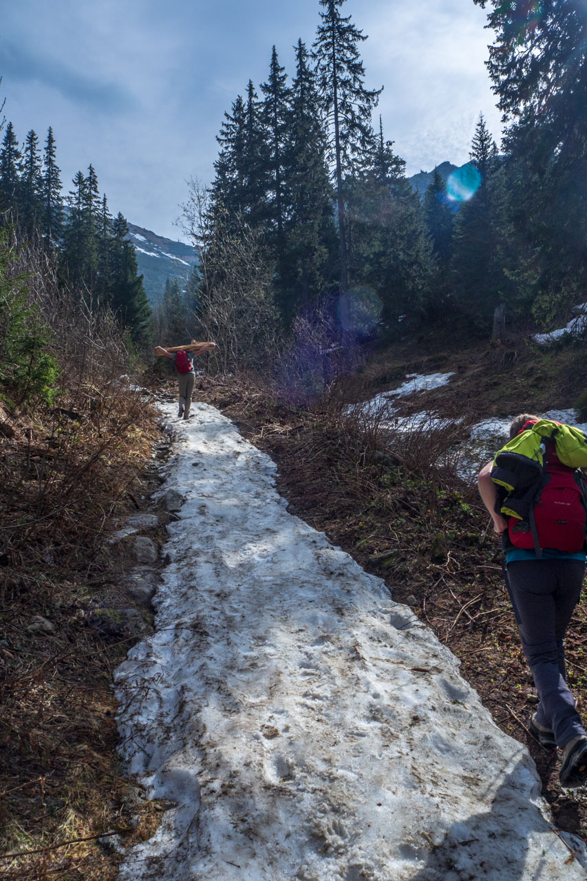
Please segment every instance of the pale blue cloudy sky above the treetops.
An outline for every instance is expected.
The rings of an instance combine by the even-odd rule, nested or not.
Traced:
[[[112,211],[169,238],[190,176],[209,182],[225,110],[267,78],[271,47],[291,75],[315,38],[318,0],[4,0],[4,114],[23,141],[53,126],[65,189],[90,162]],[[467,161],[479,112],[499,141],[484,61],[492,33],[472,0],[347,0],[368,35],[368,88],[407,174]],[[376,120],[378,122],[378,120]]]

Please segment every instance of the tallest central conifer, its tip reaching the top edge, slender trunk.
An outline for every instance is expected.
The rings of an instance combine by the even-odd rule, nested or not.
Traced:
[[[353,174],[357,157],[373,143],[371,111],[381,89],[365,88],[365,71],[358,45],[367,39],[351,24],[351,17],[341,16],[345,0],[320,0],[324,11],[314,43],[314,58],[323,114],[331,133],[331,158],[338,201],[338,239],[340,250],[340,287],[348,287],[344,177]]]

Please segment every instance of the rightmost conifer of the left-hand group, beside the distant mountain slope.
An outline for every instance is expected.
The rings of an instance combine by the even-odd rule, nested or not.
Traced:
[[[110,248],[110,305],[128,328],[135,344],[144,344],[150,336],[151,308],[137,276],[137,255],[128,241],[129,226],[118,212],[112,223]]]

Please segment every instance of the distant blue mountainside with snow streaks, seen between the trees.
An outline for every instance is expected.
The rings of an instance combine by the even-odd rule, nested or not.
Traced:
[[[138,274],[144,276],[143,285],[149,302],[152,305],[159,302],[167,278],[177,278],[183,289],[197,263],[194,248],[132,223],[129,224],[129,233],[137,252]]]

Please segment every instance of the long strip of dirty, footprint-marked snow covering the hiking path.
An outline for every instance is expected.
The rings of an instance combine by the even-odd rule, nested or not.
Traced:
[[[177,807],[121,881],[587,877],[455,657],[287,513],[227,418],[192,412],[157,631],[116,675],[130,770]]]

